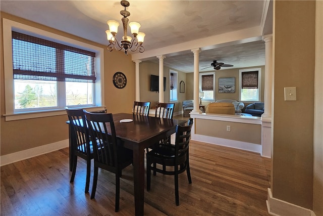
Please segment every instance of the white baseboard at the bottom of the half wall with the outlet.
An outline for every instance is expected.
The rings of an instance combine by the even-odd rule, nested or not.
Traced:
[[[204,142],[204,143],[210,143],[210,144],[215,144],[219,146],[227,146],[231,148],[242,149],[242,150],[256,152],[256,153],[261,152],[261,145],[259,144],[246,143],[246,142],[241,142],[236,140],[228,140],[228,139],[223,139],[218,137],[209,137],[209,136],[198,135],[198,134],[192,134],[191,139],[195,141]]]

